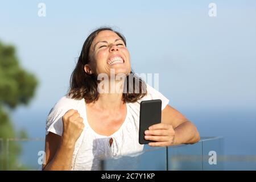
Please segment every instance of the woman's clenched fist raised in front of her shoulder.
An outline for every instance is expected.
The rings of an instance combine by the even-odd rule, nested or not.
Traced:
[[[83,119],[77,110],[70,109],[62,117],[63,140],[75,146],[76,140],[80,137],[84,129]]]

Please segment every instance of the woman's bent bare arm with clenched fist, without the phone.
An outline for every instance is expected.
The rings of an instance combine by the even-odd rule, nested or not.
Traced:
[[[51,132],[46,135],[46,164],[43,164],[43,170],[71,170],[76,140],[84,129],[82,121],[77,110],[68,110],[63,115],[63,135]]]

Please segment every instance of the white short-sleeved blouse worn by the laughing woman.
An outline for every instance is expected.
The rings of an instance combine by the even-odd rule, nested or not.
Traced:
[[[85,100],[75,100],[67,95],[62,97],[51,109],[46,120],[46,135],[51,131],[62,135],[62,117],[69,109],[75,109],[84,119],[84,130],[75,144],[72,170],[99,170],[101,159],[118,157],[143,150],[139,144],[139,108],[141,101],[162,100],[162,110],[169,100],[160,92],[147,85],[147,94],[134,103],[126,103],[126,118],[121,127],[110,136],[97,134],[88,124]],[[109,140],[113,139],[110,146]]]

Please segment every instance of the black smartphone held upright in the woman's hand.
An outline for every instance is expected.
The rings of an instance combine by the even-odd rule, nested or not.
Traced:
[[[139,143],[148,144],[153,142],[151,140],[144,139],[144,132],[148,130],[148,127],[161,122],[162,113],[162,101],[161,100],[149,100],[141,101],[139,110]]]

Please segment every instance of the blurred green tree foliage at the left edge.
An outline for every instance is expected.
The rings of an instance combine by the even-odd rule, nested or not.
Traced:
[[[24,137],[26,132],[15,134],[8,110],[18,105],[28,105],[34,97],[38,82],[32,73],[28,73],[19,65],[15,48],[0,42],[0,138]],[[0,140],[1,142],[1,140]],[[6,143],[0,143],[0,169],[18,169],[20,147],[16,142],[9,142],[9,157],[6,157]],[[8,160],[8,165],[6,160]]]

